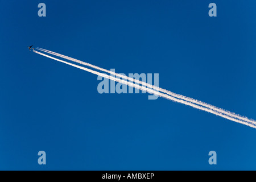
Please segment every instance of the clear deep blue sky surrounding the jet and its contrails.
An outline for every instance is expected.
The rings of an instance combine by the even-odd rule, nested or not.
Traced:
[[[38,16],[40,2],[46,17]],[[208,16],[211,2],[217,17]],[[255,7],[238,0],[2,2],[0,169],[255,170],[255,129],[148,94],[99,94],[96,75],[27,49],[118,73],[159,73],[161,88],[256,119]]]

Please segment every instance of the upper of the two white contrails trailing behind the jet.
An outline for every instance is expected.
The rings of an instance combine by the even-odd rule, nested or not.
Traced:
[[[223,113],[223,114],[225,114],[225,115],[229,115],[230,117],[237,118],[237,119],[240,119],[240,120],[246,121],[246,122],[252,122],[252,123],[256,124],[256,121],[254,121],[253,119],[248,119],[248,118],[246,118],[246,117],[242,117],[241,115],[238,115],[238,114],[236,114],[236,113],[232,113],[232,112],[230,112],[230,111],[227,111],[227,110],[218,108],[218,107],[216,107],[216,106],[207,104],[207,103],[205,103],[205,102],[198,101],[198,100],[195,100],[195,99],[193,99],[193,98],[185,97],[185,96],[182,96],[182,95],[180,95],[180,94],[176,94],[176,93],[170,92],[169,90],[159,88],[159,87],[157,87],[157,86],[148,84],[148,83],[143,82],[143,81],[140,81],[140,80],[136,80],[136,79],[131,78],[131,77],[127,77],[127,76],[124,76],[124,75],[120,75],[120,74],[118,74],[118,73],[109,71],[109,70],[107,70],[107,69],[97,67],[96,65],[92,65],[92,64],[89,64],[89,63],[85,63],[85,62],[80,61],[80,60],[77,60],[77,59],[73,59],[72,57],[68,57],[68,56],[61,55],[60,53],[56,53],[56,52],[49,51],[49,50],[47,50],[47,49],[43,49],[43,48],[39,48],[39,47],[38,47],[37,49],[39,49],[40,51],[44,51],[44,52],[47,52],[47,53],[51,53],[52,55],[55,55],[55,56],[63,57],[64,59],[71,60],[71,61],[74,61],[74,62],[76,62],[76,63],[82,64],[82,65],[86,65],[86,66],[91,67],[91,68],[94,68],[94,69],[98,69],[98,70],[103,71],[103,72],[106,72],[106,73],[110,73],[110,74],[112,74],[112,75],[115,75],[115,76],[118,76],[118,77],[121,77],[121,78],[125,78],[126,80],[130,80],[130,81],[137,82],[138,84],[147,86],[148,88],[152,88],[152,89],[155,89],[155,90],[159,90],[160,92],[169,94],[169,95],[172,96],[172,97],[176,97],[176,98],[179,98],[179,99],[184,100],[184,101],[192,102],[192,103],[194,103],[194,104],[197,104],[197,105],[200,105],[200,106],[203,106],[203,107],[207,107],[207,108],[209,108],[209,109],[211,109],[211,110],[215,110],[215,111],[217,111],[217,112],[219,112],[219,113]]]

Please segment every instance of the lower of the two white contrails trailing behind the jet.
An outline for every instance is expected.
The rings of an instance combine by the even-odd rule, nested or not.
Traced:
[[[34,51],[34,50],[33,50]],[[110,80],[113,80],[113,81],[117,81],[117,82],[121,82],[122,84],[126,84],[128,86],[133,86],[134,88],[137,88],[137,89],[140,89],[140,90],[144,90],[148,93],[151,93],[151,94],[156,94],[160,97],[163,97],[163,98],[166,98],[168,100],[171,100],[171,101],[175,101],[175,102],[179,102],[181,104],[185,104],[185,105],[188,105],[188,106],[191,106],[191,107],[195,107],[196,109],[200,109],[200,110],[204,110],[204,111],[207,111],[209,113],[212,113],[212,114],[215,114],[215,115],[218,115],[222,118],[226,118],[226,119],[229,119],[230,121],[234,121],[234,122],[238,122],[238,123],[241,123],[243,125],[246,125],[246,126],[250,126],[250,127],[253,127],[254,129],[256,129],[256,125],[253,121],[250,121],[250,122],[245,122],[245,121],[241,121],[240,119],[236,119],[236,118],[233,118],[233,117],[230,117],[228,115],[225,115],[225,114],[222,114],[222,113],[218,113],[217,111],[213,111],[211,109],[208,109],[208,108],[205,108],[205,107],[202,107],[202,106],[199,106],[199,105],[196,105],[196,104],[192,104],[191,102],[187,102],[187,101],[184,101],[184,100],[179,100],[175,97],[172,97],[172,96],[169,96],[167,94],[164,94],[164,93],[160,93],[160,92],[156,92],[155,90],[153,89],[149,89],[149,88],[146,88],[144,86],[140,86],[140,85],[137,85],[137,84],[133,84],[131,82],[128,82],[128,81],[125,81],[125,80],[121,80],[119,78],[115,78],[113,76],[109,76],[109,75],[106,75],[104,73],[100,73],[100,72],[97,72],[97,71],[93,71],[92,69],[88,69],[88,68],[85,68],[85,67],[81,67],[79,65],[76,65],[76,64],[72,64],[72,63],[68,63],[66,61],[63,61],[63,60],[60,60],[60,59],[57,59],[55,57],[52,57],[52,56],[49,56],[49,55],[46,55],[44,53],[41,53],[41,52],[38,52],[38,51],[34,51],[35,53],[38,53],[39,55],[42,55],[42,56],[46,56],[46,57],[49,57],[50,59],[53,59],[53,60],[56,60],[56,61],[60,61],[61,63],[65,63],[65,64],[68,64],[68,65],[71,65],[72,67],[76,67],[76,68],[79,68],[79,69],[82,69],[84,71],[87,71],[87,72],[90,72],[90,73],[93,73],[94,75],[98,75],[98,76],[101,76],[101,77],[105,77],[105,78],[108,78]]]

